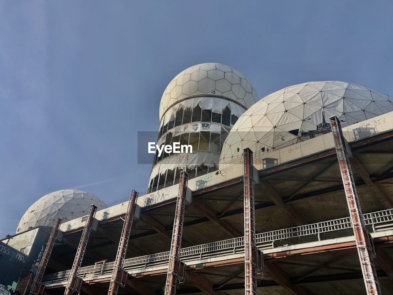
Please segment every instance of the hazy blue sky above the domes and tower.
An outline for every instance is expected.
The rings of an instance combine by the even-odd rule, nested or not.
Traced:
[[[0,1],[0,237],[64,188],[110,203],[147,189],[137,131],[204,62],[263,98],[317,80],[393,94],[391,1]]]

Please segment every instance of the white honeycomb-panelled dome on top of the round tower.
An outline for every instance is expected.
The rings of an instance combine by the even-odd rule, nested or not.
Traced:
[[[160,120],[174,103],[197,94],[225,96],[246,108],[258,101],[257,92],[241,72],[220,63],[201,63],[180,72],[168,84],[160,102]]]

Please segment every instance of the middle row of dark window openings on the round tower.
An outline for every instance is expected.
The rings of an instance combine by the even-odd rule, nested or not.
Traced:
[[[180,142],[180,145],[191,145],[193,152],[195,151],[211,151],[214,153],[220,153],[224,141],[228,136],[230,129],[221,127],[219,131],[200,131],[200,132],[187,132],[180,135],[174,135],[172,132],[168,132],[165,135],[165,142],[162,144],[172,145],[173,142]],[[161,156],[158,157],[158,150],[154,155],[154,165],[162,159],[173,155],[173,153],[162,152]]]

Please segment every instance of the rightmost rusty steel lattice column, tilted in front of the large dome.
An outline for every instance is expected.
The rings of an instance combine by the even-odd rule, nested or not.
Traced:
[[[358,193],[356,192],[356,186],[353,180],[351,164],[349,163],[351,150],[343,136],[340,120],[338,120],[336,116],[331,117],[330,120],[365,288],[368,295],[380,295],[382,293],[379,288],[378,277],[376,276],[374,259],[372,256],[373,248],[369,234],[365,228],[362,209],[360,208]]]

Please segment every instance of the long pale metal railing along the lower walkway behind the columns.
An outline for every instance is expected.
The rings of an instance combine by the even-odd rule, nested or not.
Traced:
[[[393,209],[372,212],[363,215],[366,228],[369,232],[379,232],[393,229]],[[317,242],[353,236],[351,218],[345,217],[288,229],[273,230],[256,235],[256,245],[260,250],[299,245],[303,243]],[[217,256],[239,254],[244,252],[244,237],[233,238],[213,243],[196,245],[182,248],[180,258],[183,262],[202,260]],[[124,260],[124,269],[145,269],[167,265],[169,251],[151,255],[133,257]],[[81,267],[78,276],[112,275],[114,262],[101,263]],[[70,271],[61,271],[45,275],[43,284],[64,282],[68,279]]]

